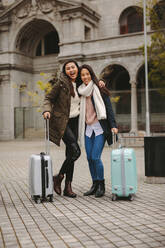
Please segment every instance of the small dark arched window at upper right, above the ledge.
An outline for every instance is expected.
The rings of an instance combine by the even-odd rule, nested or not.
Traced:
[[[139,7],[124,10],[119,19],[120,34],[143,31],[143,15]]]

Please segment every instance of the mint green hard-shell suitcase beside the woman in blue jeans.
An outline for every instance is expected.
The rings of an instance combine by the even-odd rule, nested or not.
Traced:
[[[112,200],[128,197],[133,200],[137,192],[136,156],[132,148],[113,149],[111,152]]]

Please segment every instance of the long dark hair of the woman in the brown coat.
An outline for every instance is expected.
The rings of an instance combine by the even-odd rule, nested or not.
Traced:
[[[65,74],[65,76],[68,77],[69,79],[69,86],[70,86],[70,93],[71,93],[71,96],[75,96],[75,93],[74,93],[74,88],[73,88],[73,84],[71,82],[71,79],[70,77],[66,74],[66,65],[69,64],[69,63],[74,63],[76,66],[77,66],[77,69],[78,69],[78,75],[77,75],[77,78],[75,80],[75,83],[76,83],[76,88],[78,88],[80,86],[80,67],[77,63],[77,61],[75,61],[74,59],[68,59],[65,61],[65,63],[63,64],[63,67],[62,67],[62,72]]]

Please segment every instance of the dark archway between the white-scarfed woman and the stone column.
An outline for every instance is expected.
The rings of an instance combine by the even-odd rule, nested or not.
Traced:
[[[101,73],[111,92],[111,101],[120,132],[131,128],[131,85],[128,71],[121,65],[109,65]]]

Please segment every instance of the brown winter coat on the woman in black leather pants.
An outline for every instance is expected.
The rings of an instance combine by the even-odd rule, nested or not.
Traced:
[[[60,146],[60,140],[69,120],[70,104],[69,79],[61,73],[58,82],[44,99],[44,112],[51,113],[49,121],[50,140],[58,146]]]

